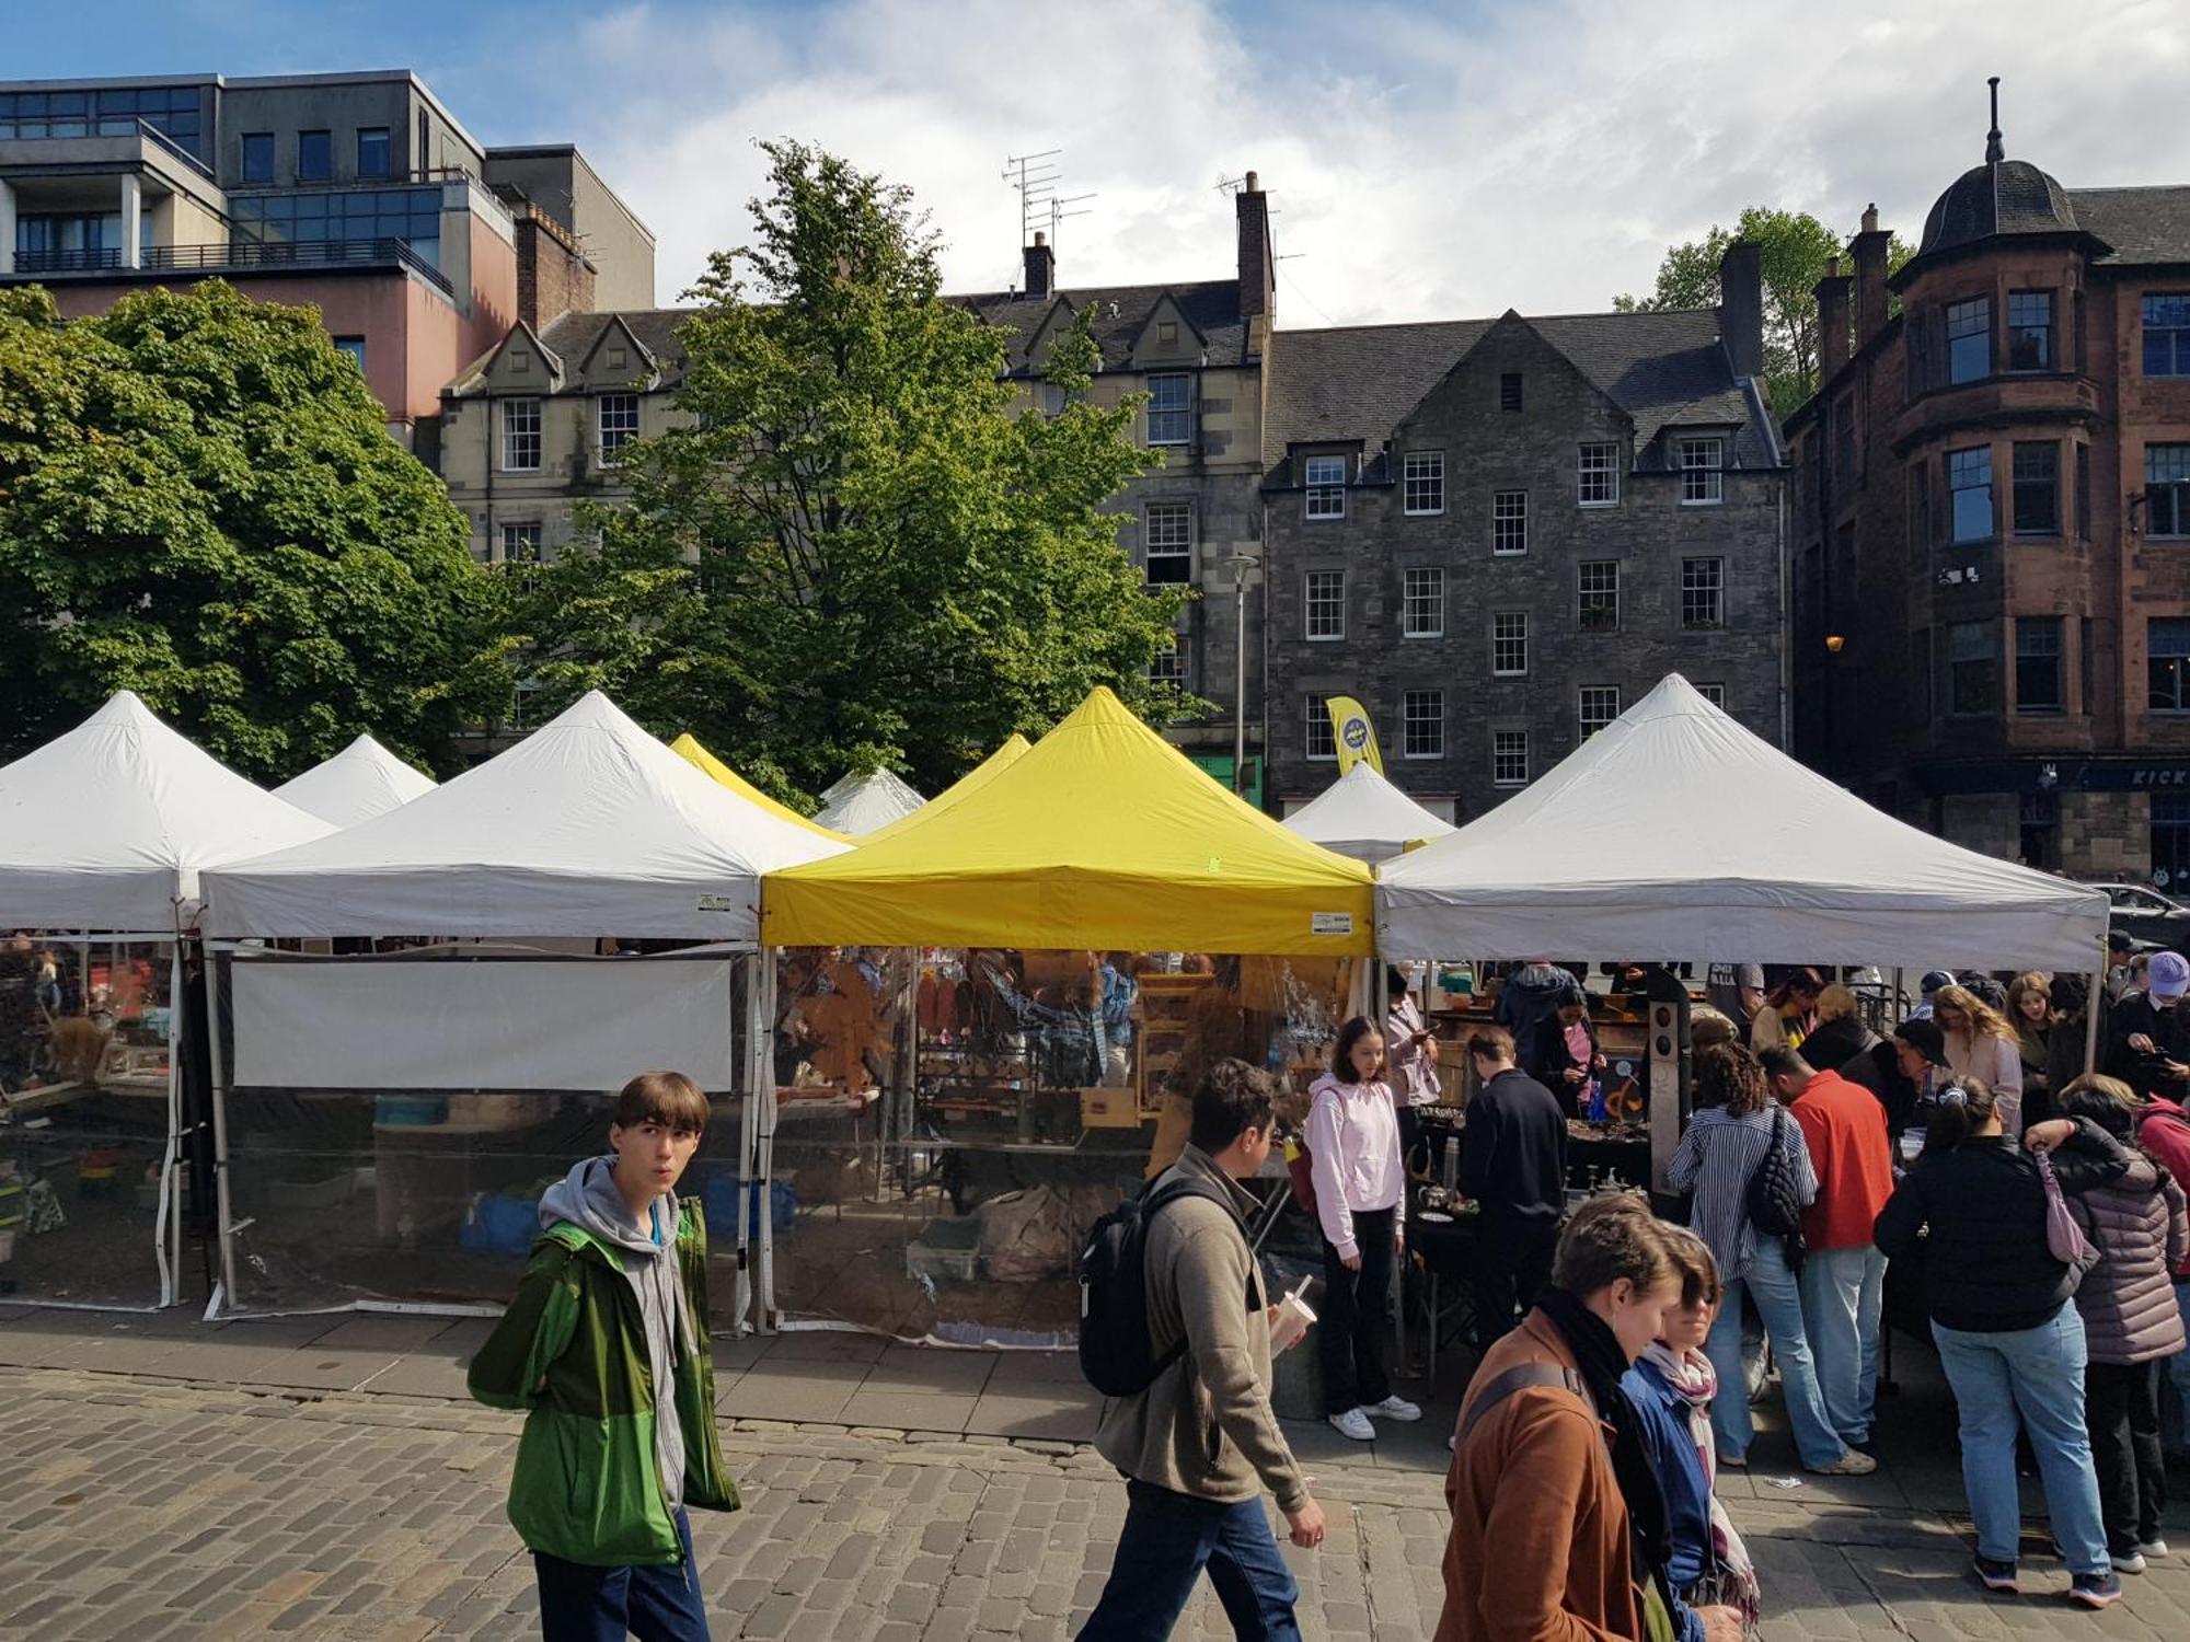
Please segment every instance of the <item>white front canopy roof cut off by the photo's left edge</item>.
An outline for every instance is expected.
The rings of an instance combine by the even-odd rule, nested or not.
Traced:
[[[201,869],[328,830],[123,690],[0,768],[0,926],[171,939],[188,922]]]

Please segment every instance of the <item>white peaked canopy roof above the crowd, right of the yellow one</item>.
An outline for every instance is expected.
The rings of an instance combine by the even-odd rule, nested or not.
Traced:
[[[2107,895],[1875,810],[1669,674],[1535,786],[1378,871],[1386,957],[2102,963]]]

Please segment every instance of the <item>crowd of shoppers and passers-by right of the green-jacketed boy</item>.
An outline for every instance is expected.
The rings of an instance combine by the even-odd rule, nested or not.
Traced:
[[[1671,1160],[1686,1226],[1638,1191],[1568,1209],[1572,1086],[1597,1071],[1586,998],[1551,963],[1507,987],[1502,1025],[1465,1040],[1480,1360],[1452,1434],[1439,1642],[1754,1633],[1770,1592],[1715,1484],[1750,1460],[1765,1353],[1800,1462],[1872,1471],[1897,1265],[1958,1408],[1975,1579],[2019,1592],[2019,1447],[2076,1605],[2113,1605],[2122,1574],[2168,1554],[2166,1379],[2190,1414],[2190,963],[2124,961],[2100,996],[2074,976],[1940,972],[1890,1038],[1816,970],[1734,972],[1726,1011],[1693,1029]],[[1382,1022],[1342,1029],[1305,1132],[1325,1410],[1362,1441],[1421,1412],[1391,1388],[1382,1296],[1406,1250],[1402,1134],[1439,1086],[1399,976],[1393,996]],[[1165,1180],[1244,1180],[1275,1128],[1266,1075],[1224,1062]],[[1237,1215],[1200,1226],[1244,1257]],[[1321,1541],[1323,1515],[1270,1416],[1268,1329],[1235,1340],[1240,1261],[1194,1250],[1183,1230],[1150,1241],[1152,1349],[1183,1351],[1106,1408],[1130,1554],[1084,1638],[1165,1635],[1204,1568],[1240,1635],[1299,1635],[1259,1493],[1296,1546]]]

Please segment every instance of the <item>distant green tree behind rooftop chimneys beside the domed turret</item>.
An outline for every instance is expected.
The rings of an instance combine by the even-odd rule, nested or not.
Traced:
[[[1759,245],[1765,287],[1765,403],[1774,416],[1787,416],[1818,392],[1818,280],[1826,263],[1842,256],[1846,241],[1807,210],[1774,210],[1750,206],[1734,228],[1713,223],[1702,239],[1669,245],[1658,265],[1658,285],[1649,296],[1616,296],[1621,313],[1649,309],[1710,309],[1719,302],[1719,258],[1737,239]],[[1886,271],[1910,258],[1910,245],[1897,234],[1886,250]]]

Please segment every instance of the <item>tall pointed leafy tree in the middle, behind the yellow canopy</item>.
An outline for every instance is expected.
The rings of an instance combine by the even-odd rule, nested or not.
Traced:
[[[1183,595],[1104,510],[1152,458],[1132,403],[1088,401],[1086,324],[1047,361],[1053,414],[1025,405],[907,188],[762,147],[751,243],[683,326],[690,425],[624,449],[598,552],[517,571],[539,705],[602,687],[793,801],[883,764],[935,790],[1095,685],[1198,709],[1148,681]]]

